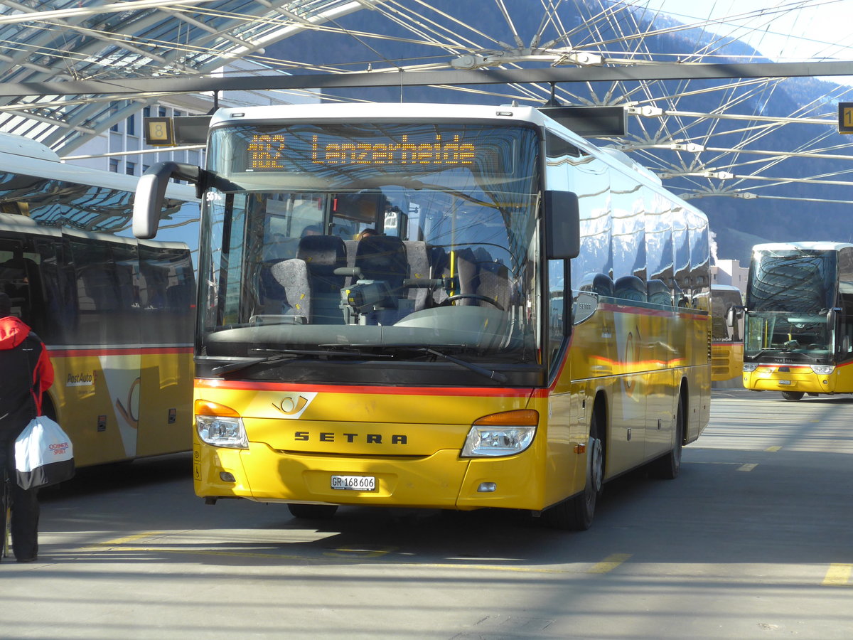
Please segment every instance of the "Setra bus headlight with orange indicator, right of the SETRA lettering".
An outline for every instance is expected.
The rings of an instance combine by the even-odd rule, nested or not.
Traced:
[[[534,410],[503,411],[473,423],[461,457],[514,456],[533,442],[539,414]]]

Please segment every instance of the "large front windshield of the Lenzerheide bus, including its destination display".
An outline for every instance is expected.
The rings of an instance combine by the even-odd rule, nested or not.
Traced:
[[[537,149],[519,126],[212,130],[199,355],[536,364]]]

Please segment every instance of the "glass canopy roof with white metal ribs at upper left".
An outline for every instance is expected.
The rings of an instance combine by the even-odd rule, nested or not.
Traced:
[[[209,73],[382,0],[0,0],[0,82]],[[242,69],[241,73],[247,73]],[[249,72],[251,73],[251,72]],[[66,155],[146,105],[126,96],[0,97],[0,131]]]

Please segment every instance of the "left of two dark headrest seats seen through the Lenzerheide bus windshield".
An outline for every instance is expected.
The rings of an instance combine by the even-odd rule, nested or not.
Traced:
[[[339,236],[305,236],[299,240],[297,259],[305,261],[311,297],[310,323],[343,324],[340,289],[344,276],[335,269],[346,265],[346,247]]]

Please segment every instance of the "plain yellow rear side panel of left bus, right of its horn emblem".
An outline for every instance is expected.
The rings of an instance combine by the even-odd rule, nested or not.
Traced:
[[[193,373],[189,348],[143,352],[137,456],[191,448]]]

